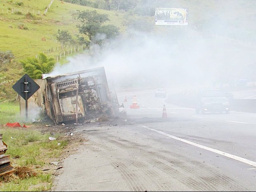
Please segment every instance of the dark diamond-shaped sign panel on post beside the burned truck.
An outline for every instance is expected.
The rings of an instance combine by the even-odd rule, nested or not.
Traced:
[[[17,83],[15,83],[12,88],[24,99],[26,100],[26,93],[27,99],[31,97],[39,88],[40,86],[27,74],[20,78]]]

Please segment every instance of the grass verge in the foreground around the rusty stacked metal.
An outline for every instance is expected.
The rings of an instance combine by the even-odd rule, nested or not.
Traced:
[[[59,158],[69,144],[65,137],[54,135],[57,140],[50,141],[50,133],[40,133],[32,128],[0,127],[2,141],[7,144],[5,155],[10,155],[11,166],[28,167],[36,175],[26,178],[13,177],[6,182],[0,177],[0,191],[46,191],[52,187],[53,175],[41,171],[50,159]],[[60,144],[60,145],[59,145]],[[32,172],[31,172],[32,173]],[[17,174],[18,175],[18,174]],[[26,175],[26,174],[25,174]]]

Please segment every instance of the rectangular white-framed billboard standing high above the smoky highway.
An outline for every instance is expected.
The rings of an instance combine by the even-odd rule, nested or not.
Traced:
[[[187,25],[188,8],[156,8],[156,25]]]

